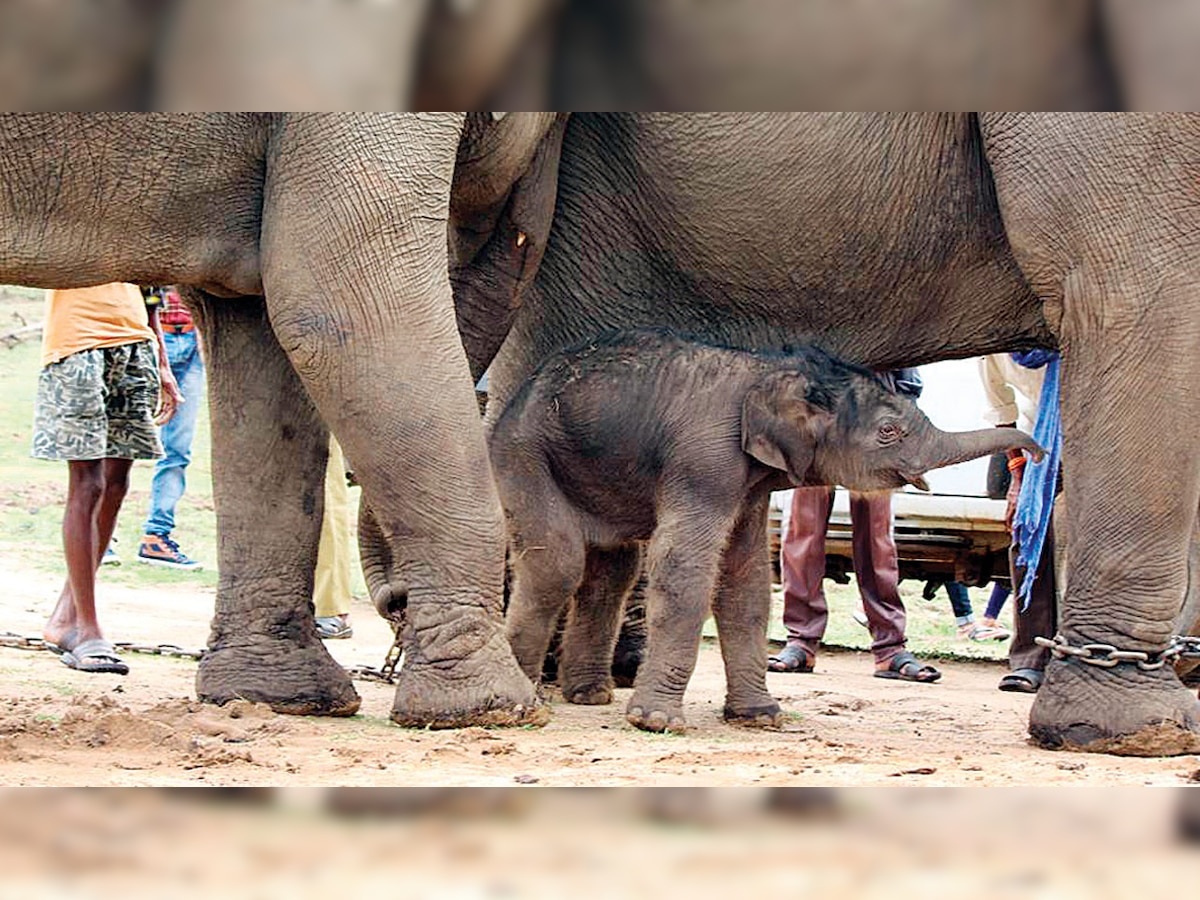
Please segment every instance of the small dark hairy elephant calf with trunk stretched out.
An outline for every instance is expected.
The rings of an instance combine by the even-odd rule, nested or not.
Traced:
[[[646,545],[649,635],[629,721],[685,727],[683,694],[712,608],[725,718],[775,724],[766,680],[770,491],[924,488],[928,469],[1009,448],[1040,454],[1012,428],[938,431],[871,372],[816,349],[751,354],[635,330],[554,355],[514,396],[490,445],[508,515],[517,661],[538,678],[574,596],[563,696],[610,702],[623,600]]]

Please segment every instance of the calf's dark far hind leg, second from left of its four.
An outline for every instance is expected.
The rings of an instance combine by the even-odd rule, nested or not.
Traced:
[[[558,683],[566,702],[612,702],[612,653],[640,562],[636,546],[588,551],[583,584],[563,632]]]

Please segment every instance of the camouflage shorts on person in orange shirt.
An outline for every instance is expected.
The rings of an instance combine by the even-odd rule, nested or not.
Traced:
[[[72,353],[42,368],[34,407],[40,460],[157,460],[158,360],[150,341]]]

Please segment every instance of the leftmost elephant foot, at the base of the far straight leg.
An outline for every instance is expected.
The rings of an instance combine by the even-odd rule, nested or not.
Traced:
[[[196,694],[218,706],[230,700],[268,703],[284,715],[354,715],[362,703],[346,670],[319,641],[210,650],[197,670]]]

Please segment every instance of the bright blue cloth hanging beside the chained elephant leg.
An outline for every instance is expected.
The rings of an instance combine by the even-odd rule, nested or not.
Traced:
[[[1032,354],[1042,355],[1030,359]],[[1030,362],[1022,362],[1019,358],[1030,359]],[[1025,566],[1025,578],[1016,589],[1024,611],[1030,605],[1030,592],[1037,577],[1038,563],[1042,562],[1042,548],[1045,546],[1054,512],[1058,464],[1062,460],[1062,415],[1058,408],[1058,354],[1030,350],[1028,354],[1014,353],[1013,360],[1026,368],[1040,368],[1044,365],[1046,370],[1045,379],[1042,382],[1042,398],[1038,401],[1038,421],[1033,426],[1033,439],[1046,452],[1042,462],[1026,464],[1021,492],[1016,498],[1016,512],[1013,516],[1013,542],[1018,546],[1016,564]]]

